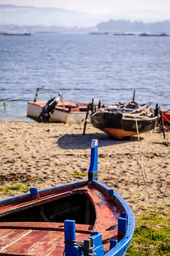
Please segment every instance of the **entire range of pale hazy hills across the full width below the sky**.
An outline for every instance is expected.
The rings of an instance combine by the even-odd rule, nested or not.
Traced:
[[[113,20],[142,20],[143,22],[155,22],[170,19],[166,12],[153,11],[128,11],[111,12],[106,15],[93,15],[83,12],[75,12],[60,8],[36,8],[34,6],[0,5],[0,24],[16,24],[20,26],[96,26],[102,21]]]

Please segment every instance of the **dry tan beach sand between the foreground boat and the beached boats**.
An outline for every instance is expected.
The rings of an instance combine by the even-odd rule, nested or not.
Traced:
[[[136,216],[147,207],[154,211],[170,204],[170,132],[166,139],[157,130],[140,135],[145,185],[137,137],[109,140],[91,124],[82,136],[83,127],[76,126],[0,122],[1,190],[14,182],[44,189],[87,179],[91,140],[98,139],[99,180],[115,189]],[[58,140],[61,134],[67,135]],[[0,191],[0,200],[20,194]]]

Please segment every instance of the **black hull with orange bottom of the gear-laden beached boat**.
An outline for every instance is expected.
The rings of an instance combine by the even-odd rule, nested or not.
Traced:
[[[137,118],[139,133],[150,131],[155,128],[158,117]],[[119,113],[96,113],[91,118],[94,127],[105,133],[122,139],[123,137],[134,136],[137,134],[135,116],[123,115]]]

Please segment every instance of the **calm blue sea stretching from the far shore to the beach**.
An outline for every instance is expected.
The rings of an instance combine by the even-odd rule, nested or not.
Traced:
[[[170,109],[170,37],[35,34],[0,35],[0,120],[26,118],[37,87],[77,102],[136,101]],[[38,100],[55,95],[43,93]]]

